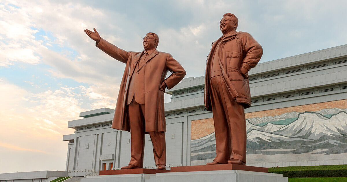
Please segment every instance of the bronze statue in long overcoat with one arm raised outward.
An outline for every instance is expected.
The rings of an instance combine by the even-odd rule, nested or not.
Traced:
[[[147,33],[142,40],[144,51],[125,51],[105,41],[95,32],[84,32],[96,41],[96,47],[120,62],[126,63],[111,128],[131,134],[131,159],[122,169],[143,167],[145,133],[153,144],[157,169],[166,166],[166,123],[164,116],[164,90],[171,89],[186,75],[183,67],[171,54],[159,52],[159,37]],[[172,74],[165,79],[167,72]]]

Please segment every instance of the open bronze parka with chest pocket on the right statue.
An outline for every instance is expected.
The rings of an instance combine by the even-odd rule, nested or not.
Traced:
[[[205,106],[206,110],[212,111],[211,98],[209,93],[209,69],[212,62],[214,51],[218,51],[218,58],[222,77],[229,89],[229,94],[235,102],[243,103],[245,108],[251,107],[251,93],[249,90],[248,79],[245,79],[240,72],[244,67],[248,71],[254,68],[263,55],[262,46],[246,32],[231,32],[212,43],[210,54],[206,62],[205,77]],[[216,45],[220,43],[219,49],[215,50]]]

